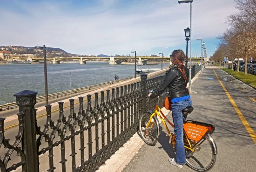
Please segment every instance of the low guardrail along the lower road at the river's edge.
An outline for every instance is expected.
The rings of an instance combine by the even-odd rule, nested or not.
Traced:
[[[128,77],[128,78],[124,78],[124,79],[113,80],[113,81],[109,81],[109,82],[95,84],[95,85],[92,85],[92,86],[76,88],[76,89],[73,89],[73,90],[67,90],[67,91],[63,91],[63,92],[59,92],[59,93],[53,93],[53,94],[48,95],[48,99],[56,99],[56,98],[59,98],[59,97],[63,97],[63,96],[67,96],[67,95],[71,95],[71,94],[75,94],[75,93],[81,93],[81,92],[88,91],[92,88],[112,85],[112,84],[115,84],[115,83],[118,83],[118,82],[121,82],[121,81],[126,81],[126,80],[129,80],[129,79],[133,79],[133,78],[134,77]],[[39,96],[39,97],[36,98],[36,100],[37,100],[37,102],[43,102],[43,101],[45,101],[45,96]],[[8,110],[8,109],[16,108],[16,107],[18,107],[16,105],[16,102],[7,103],[5,105],[0,105],[0,111]]]

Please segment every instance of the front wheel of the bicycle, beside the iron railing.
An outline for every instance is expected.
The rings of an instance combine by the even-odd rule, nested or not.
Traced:
[[[149,121],[151,113],[144,112],[139,119],[139,133],[141,139],[150,146],[155,146],[160,135],[160,124],[158,119],[153,116]],[[149,123],[149,124],[148,124]],[[146,126],[148,126],[146,128]]]

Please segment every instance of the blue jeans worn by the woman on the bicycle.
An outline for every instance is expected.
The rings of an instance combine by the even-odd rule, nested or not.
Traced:
[[[176,103],[172,103],[172,118],[174,123],[174,133],[176,141],[176,162],[180,165],[186,164],[186,155],[183,142],[183,119],[182,110],[192,106],[191,98]]]

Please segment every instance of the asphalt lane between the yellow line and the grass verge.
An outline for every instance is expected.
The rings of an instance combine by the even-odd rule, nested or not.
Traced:
[[[222,70],[214,73],[256,145],[256,90]]]

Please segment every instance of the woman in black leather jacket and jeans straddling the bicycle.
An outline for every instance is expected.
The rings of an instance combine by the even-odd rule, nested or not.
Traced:
[[[186,164],[185,148],[183,143],[183,119],[182,110],[192,106],[192,101],[187,89],[189,70],[184,66],[186,56],[182,50],[174,50],[171,55],[172,65],[166,73],[162,84],[153,92],[148,94],[149,98],[155,98],[168,87],[172,102],[172,118],[174,123],[176,158],[169,159],[172,165],[182,168]],[[181,71],[178,69],[180,68]]]

